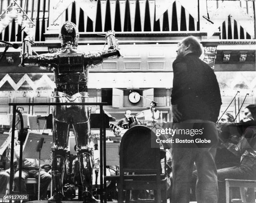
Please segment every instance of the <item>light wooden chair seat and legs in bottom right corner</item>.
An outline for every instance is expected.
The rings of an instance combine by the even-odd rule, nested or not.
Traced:
[[[231,187],[239,187],[242,203],[255,203],[256,180],[237,180],[237,179],[225,179],[226,181],[226,203],[232,203]],[[244,188],[248,188],[248,201],[246,200],[246,194]],[[241,202],[240,201],[240,202]]]

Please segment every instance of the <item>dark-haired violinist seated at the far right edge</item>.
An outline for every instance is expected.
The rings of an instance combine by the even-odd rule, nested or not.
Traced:
[[[256,104],[246,107],[246,120],[241,121],[246,128],[238,144],[228,147],[228,150],[241,158],[240,163],[234,167],[217,170],[219,200],[225,203],[225,179],[256,180]],[[248,115],[248,116],[247,116]],[[253,200],[254,201],[254,200]]]

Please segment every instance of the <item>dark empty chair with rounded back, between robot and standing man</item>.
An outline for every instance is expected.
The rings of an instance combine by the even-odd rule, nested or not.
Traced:
[[[130,128],[122,137],[119,203],[123,202],[123,190],[154,190],[155,202],[161,203],[161,200],[167,199],[167,178],[166,173],[161,174],[160,148],[151,146],[151,136],[156,136],[151,129],[137,125]],[[126,173],[129,175],[125,175]]]

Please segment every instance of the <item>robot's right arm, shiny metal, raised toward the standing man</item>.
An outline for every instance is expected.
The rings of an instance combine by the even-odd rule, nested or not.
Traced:
[[[108,50],[85,54],[85,58],[88,58],[89,66],[98,66],[103,62],[103,60],[118,58],[121,56],[117,40],[115,39],[115,31],[110,30],[106,32],[106,41],[108,43]]]

